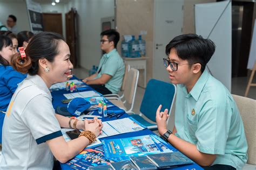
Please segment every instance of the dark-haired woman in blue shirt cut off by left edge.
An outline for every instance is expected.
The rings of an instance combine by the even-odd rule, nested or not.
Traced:
[[[13,55],[12,40],[7,36],[0,35],[0,143],[2,143],[5,112],[18,84],[26,77],[25,74],[17,72],[10,66]]]

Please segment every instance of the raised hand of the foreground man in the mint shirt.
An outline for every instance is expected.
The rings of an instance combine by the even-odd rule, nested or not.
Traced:
[[[169,118],[169,115],[168,115],[168,109],[165,109],[164,112],[160,112],[161,108],[162,108],[162,105],[160,104],[156,112],[156,121],[157,121],[158,132],[161,136],[163,136],[163,134],[167,132],[166,121]]]

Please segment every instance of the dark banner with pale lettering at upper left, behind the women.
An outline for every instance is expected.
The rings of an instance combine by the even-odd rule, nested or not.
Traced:
[[[32,0],[26,0],[26,7],[28,9],[30,28],[33,33],[44,31],[42,8],[39,3]]]

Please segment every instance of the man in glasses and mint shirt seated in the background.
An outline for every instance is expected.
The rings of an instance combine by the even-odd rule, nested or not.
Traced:
[[[100,59],[97,73],[85,78],[83,82],[103,95],[118,93],[125,72],[124,61],[116,49],[120,35],[116,30],[106,30],[100,36],[100,48],[105,54]]]

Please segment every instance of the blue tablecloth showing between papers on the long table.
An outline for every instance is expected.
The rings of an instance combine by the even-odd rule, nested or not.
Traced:
[[[75,77],[75,79],[76,79],[76,77]],[[93,89],[88,89],[88,90],[85,90],[85,91],[89,91],[89,90],[93,90]],[[67,104],[63,104],[61,102],[61,100],[66,99],[63,94],[67,94],[67,93],[70,93],[70,91],[66,91],[66,90],[52,91],[51,95],[52,95],[53,108],[56,109],[57,106],[65,106],[66,107]],[[112,107],[111,110],[119,110],[119,108],[118,107]],[[130,115],[128,115],[128,114],[124,114],[120,118],[125,118],[125,117],[129,117],[129,116]],[[111,121],[111,120],[114,120],[114,119],[115,119],[114,117],[113,118],[104,118],[103,117],[102,121],[103,122],[104,121]],[[130,132],[130,133],[118,134],[116,136],[105,137],[105,138],[102,138],[100,140],[136,137],[136,136],[143,136],[143,135],[147,135],[147,134],[154,134],[154,133],[149,129],[144,129],[142,131]],[[169,146],[169,148],[173,151],[177,151],[176,148],[174,148],[171,145]],[[69,167],[66,164],[61,164],[60,166],[62,167],[62,169],[73,169],[73,168]],[[199,165],[194,163],[194,164],[191,164],[191,165],[179,166],[179,167],[172,168],[172,169],[187,169],[187,170],[196,170],[197,169],[198,170],[198,169],[203,169],[203,168],[201,168]]]

